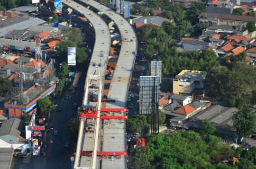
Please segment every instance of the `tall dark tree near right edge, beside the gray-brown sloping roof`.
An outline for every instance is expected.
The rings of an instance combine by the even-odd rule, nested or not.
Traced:
[[[248,138],[256,129],[255,116],[249,105],[240,107],[240,111],[233,116],[233,124],[240,136]]]

